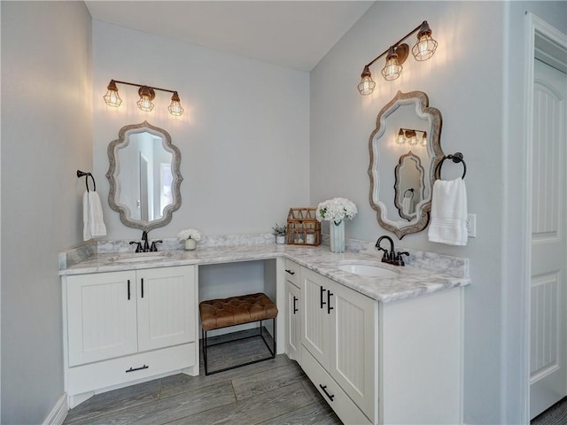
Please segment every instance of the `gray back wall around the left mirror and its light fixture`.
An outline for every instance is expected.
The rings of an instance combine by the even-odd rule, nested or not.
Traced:
[[[177,90],[185,112],[171,116],[171,94],[160,91],[154,110],[142,112],[137,89],[120,84],[123,102],[109,107],[102,97],[111,79]],[[151,231],[152,239],[183,228],[269,233],[290,206],[308,204],[309,73],[95,20],[92,101],[101,198],[108,196],[106,147],[123,126],[148,120],[181,151],[183,204],[167,227]],[[108,239],[140,238],[103,205]]]

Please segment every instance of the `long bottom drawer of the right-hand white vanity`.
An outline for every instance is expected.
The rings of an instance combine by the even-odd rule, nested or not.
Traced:
[[[301,367],[315,385],[315,388],[319,390],[322,397],[329,403],[329,406],[337,413],[340,420],[353,425],[372,423],[303,346],[302,351]],[[333,396],[332,400],[329,396]]]

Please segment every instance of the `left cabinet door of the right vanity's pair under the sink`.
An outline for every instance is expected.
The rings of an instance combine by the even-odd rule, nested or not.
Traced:
[[[303,300],[304,321],[301,342],[323,367],[329,366],[330,314],[327,310],[329,280],[307,268],[301,269],[301,299]]]

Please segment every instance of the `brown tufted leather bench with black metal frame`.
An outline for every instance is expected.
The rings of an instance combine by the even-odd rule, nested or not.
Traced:
[[[277,307],[266,294],[260,292],[256,294],[242,295],[239,297],[210,299],[201,301],[201,303],[198,305],[198,308],[201,315],[201,328],[203,334],[203,358],[205,360],[205,375],[216,374],[225,370],[233,369],[235,367],[242,367],[250,365],[252,363],[257,363],[259,361],[274,359],[276,357]],[[262,321],[269,319],[272,320],[274,329],[273,347],[269,346],[266,338],[262,334]],[[207,332],[214,329],[229,328],[230,326],[242,325],[244,323],[252,323],[255,321],[260,321],[260,333],[254,336],[261,336],[261,338],[264,340],[264,344],[266,344],[266,346],[268,347],[271,356],[265,359],[251,360],[237,366],[225,367],[219,370],[215,370],[214,372],[209,372],[207,362],[207,349],[208,347],[217,344],[208,344],[208,338],[206,335]],[[233,339],[227,342],[232,341],[237,340]]]

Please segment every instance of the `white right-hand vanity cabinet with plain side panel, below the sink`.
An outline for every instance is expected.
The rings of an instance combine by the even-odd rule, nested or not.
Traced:
[[[462,290],[378,302],[301,267],[301,367],[349,424],[462,423]]]

